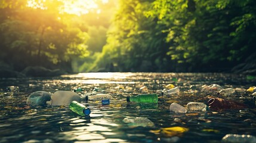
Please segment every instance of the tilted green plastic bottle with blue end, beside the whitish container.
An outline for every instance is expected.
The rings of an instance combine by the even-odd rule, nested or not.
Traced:
[[[81,116],[88,116],[91,113],[90,108],[85,107],[85,105],[77,101],[70,102],[69,108],[70,110]]]

